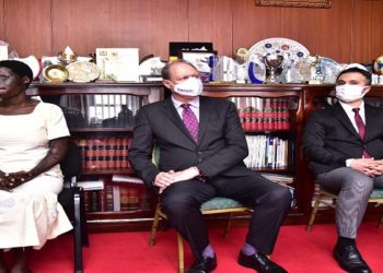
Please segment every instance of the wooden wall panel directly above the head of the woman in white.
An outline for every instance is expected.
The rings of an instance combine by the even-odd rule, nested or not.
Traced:
[[[4,38],[20,57],[50,55],[50,0],[3,0]]]

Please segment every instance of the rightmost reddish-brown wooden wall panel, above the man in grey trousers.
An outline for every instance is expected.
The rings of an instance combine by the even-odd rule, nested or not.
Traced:
[[[352,62],[371,62],[383,55],[383,1],[355,0]]]

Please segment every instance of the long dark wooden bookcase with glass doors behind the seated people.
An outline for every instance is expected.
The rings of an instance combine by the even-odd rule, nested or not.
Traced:
[[[249,161],[246,164],[272,179],[285,179],[285,182],[295,188],[297,205],[290,211],[287,224],[306,224],[309,218],[314,179],[301,151],[302,134],[310,111],[327,102],[332,90],[333,85],[306,84],[205,85],[204,96],[230,99],[237,106],[253,154],[253,161],[246,158]],[[125,161],[132,136],[134,117],[140,106],[164,99],[162,86],[132,83],[33,83],[27,94],[39,95],[44,100],[63,107],[72,138],[83,151],[80,180],[102,179],[107,186],[103,194],[100,194],[100,190],[86,193],[90,195],[88,199],[94,200],[89,203],[90,232],[149,230],[156,197],[141,183],[129,183],[130,189],[127,187],[117,194],[117,188],[126,185],[124,181],[113,181],[113,176],[135,176]],[[382,98],[383,86],[373,86],[369,96]],[[79,112],[83,118],[78,118]],[[258,143],[258,146],[253,143]],[[112,209],[111,200],[103,200],[111,194],[119,197],[118,210]],[[100,207],[100,202],[104,207]],[[317,221],[333,222],[332,211],[321,212]]]

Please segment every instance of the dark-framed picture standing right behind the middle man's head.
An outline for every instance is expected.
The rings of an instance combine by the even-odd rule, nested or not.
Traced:
[[[206,50],[179,50],[178,58],[193,63],[201,78],[202,82],[208,82],[211,75],[213,58],[217,51]]]

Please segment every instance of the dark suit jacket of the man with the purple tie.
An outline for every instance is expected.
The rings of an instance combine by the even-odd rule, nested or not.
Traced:
[[[160,149],[159,167],[151,162],[153,145]],[[208,178],[252,173],[243,163],[247,144],[236,107],[227,99],[200,97],[199,141],[193,140],[167,98],[140,108],[129,149],[129,162],[148,186],[160,170],[197,166]]]

